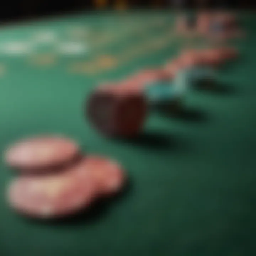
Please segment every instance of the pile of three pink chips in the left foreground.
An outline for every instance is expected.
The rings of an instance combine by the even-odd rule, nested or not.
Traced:
[[[23,140],[6,150],[5,160],[19,174],[8,186],[7,200],[33,218],[76,214],[96,199],[118,193],[125,181],[116,161],[82,155],[79,146],[64,137]]]

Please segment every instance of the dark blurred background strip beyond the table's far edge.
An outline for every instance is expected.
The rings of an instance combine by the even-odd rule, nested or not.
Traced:
[[[255,0],[21,0],[4,1],[0,22],[10,22],[75,11],[156,8],[255,8]]]

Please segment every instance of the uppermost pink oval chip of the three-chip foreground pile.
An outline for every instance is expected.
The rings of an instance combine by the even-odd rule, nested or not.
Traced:
[[[62,137],[37,137],[12,145],[5,154],[7,164],[34,171],[66,164],[75,159],[79,151],[72,140]]]

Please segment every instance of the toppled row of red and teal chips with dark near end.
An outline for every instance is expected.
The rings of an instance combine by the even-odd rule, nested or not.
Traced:
[[[140,70],[123,81],[96,87],[86,99],[86,116],[103,135],[135,137],[143,129],[148,106],[179,110],[190,84],[213,86],[214,69],[236,56],[232,48],[186,50],[160,69]]]

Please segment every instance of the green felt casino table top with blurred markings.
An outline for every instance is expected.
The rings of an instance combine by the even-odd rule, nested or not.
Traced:
[[[136,35],[122,37],[138,28],[131,23],[134,20],[145,27]],[[247,37],[236,42],[241,57],[219,71],[220,90],[191,90],[182,116],[149,112],[142,135],[134,140],[104,138],[84,117],[85,98],[99,82],[125,79],[138,69],[162,65],[187,44],[171,34],[173,20],[169,12],[90,13],[6,26],[0,31],[0,42],[25,38],[40,29],[62,31],[75,25],[98,34],[117,34],[108,46],[95,39],[98,46],[92,45],[89,55],[58,55],[49,66],[31,65],[27,57],[1,56],[6,70],[0,78],[0,147],[4,153],[10,143],[23,137],[64,134],[77,140],[87,154],[117,159],[130,178],[120,196],[89,212],[63,222],[42,223],[8,207],[6,186],[15,174],[2,161],[0,255],[255,255],[253,14],[242,15]],[[121,29],[122,22],[130,22],[127,31]],[[157,38],[148,52],[137,49],[134,58],[122,57],[112,69],[90,74],[70,71],[72,63],[90,65],[96,55],[119,56]]]

